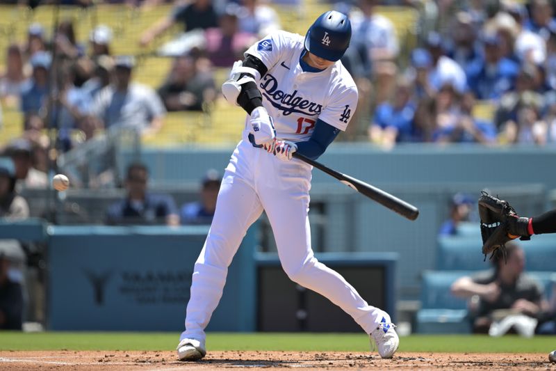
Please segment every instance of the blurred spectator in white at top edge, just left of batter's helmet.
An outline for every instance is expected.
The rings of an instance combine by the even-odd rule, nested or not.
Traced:
[[[272,31],[280,29],[280,19],[274,9],[260,0],[240,1],[238,9],[239,29],[263,38]]]

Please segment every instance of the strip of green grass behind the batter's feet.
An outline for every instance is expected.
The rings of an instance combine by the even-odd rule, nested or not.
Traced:
[[[172,350],[179,333],[44,332],[0,333],[0,350]],[[366,352],[363,334],[338,333],[209,333],[209,350],[288,350]],[[556,336],[407,336],[401,352],[547,353],[556,349]]]

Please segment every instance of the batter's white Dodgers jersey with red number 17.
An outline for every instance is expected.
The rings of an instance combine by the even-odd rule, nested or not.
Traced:
[[[302,35],[276,31],[245,52],[268,68],[256,83],[279,139],[309,139],[317,118],[345,131],[357,107],[357,86],[342,63],[321,72],[303,72],[303,51]]]

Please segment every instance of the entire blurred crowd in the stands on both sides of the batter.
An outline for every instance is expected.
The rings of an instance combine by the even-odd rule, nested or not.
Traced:
[[[156,135],[167,111],[208,111],[219,92],[215,70],[229,68],[258,38],[281,28],[272,4],[260,1],[178,1],[145,24],[133,40],[145,51],[172,26],[183,30],[158,49],[173,58],[158,86],[134,81],[138,61],[111,53],[114,35],[106,25],[83,42],[71,19],[59,22],[54,35],[31,24],[26,40],[8,47],[2,106],[22,111],[24,136],[40,148],[56,144],[66,151],[111,127]],[[416,10],[414,42],[402,40],[396,25],[376,12],[389,5]],[[352,19],[343,63],[360,93],[344,139],[365,137],[386,147],[556,141],[555,1],[355,0],[330,7]],[[481,109],[486,113],[477,115]],[[56,143],[42,135],[49,127],[59,131]]]

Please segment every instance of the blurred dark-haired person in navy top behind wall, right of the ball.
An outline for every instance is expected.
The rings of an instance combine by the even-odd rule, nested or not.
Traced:
[[[179,215],[171,196],[153,194],[147,190],[149,172],[141,163],[130,164],[127,168],[125,188],[127,196],[110,207],[106,212],[109,225],[179,225]]]

